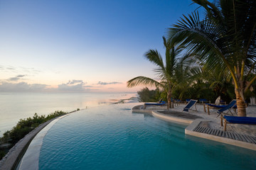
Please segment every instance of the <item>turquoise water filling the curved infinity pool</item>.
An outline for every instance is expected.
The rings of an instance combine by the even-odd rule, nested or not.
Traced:
[[[186,125],[100,106],[60,119],[43,140],[39,169],[255,169],[256,152],[184,134]]]

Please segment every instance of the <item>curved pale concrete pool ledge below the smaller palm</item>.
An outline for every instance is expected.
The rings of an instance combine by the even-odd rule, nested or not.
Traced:
[[[159,113],[158,111],[152,111],[151,113],[154,117],[160,118],[162,120],[167,120],[167,121],[177,122],[177,123],[184,123],[187,125],[193,123],[193,120],[186,119],[186,118],[176,118],[176,117],[173,117],[170,115],[165,115],[165,114]]]

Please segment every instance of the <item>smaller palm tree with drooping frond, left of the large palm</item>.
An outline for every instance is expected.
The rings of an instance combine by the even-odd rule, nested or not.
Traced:
[[[172,108],[173,105],[171,105],[171,95],[176,86],[178,86],[178,73],[181,74],[182,71],[186,71],[188,69],[184,69],[186,67],[183,67],[183,62],[186,61],[188,57],[191,57],[191,55],[184,55],[183,57],[179,57],[181,55],[182,48],[181,47],[174,47],[172,45],[171,40],[166,40],[166,38],[163,37],[164,40],[164,46],[166,47],[166,58],[165,58],[165,64],[164,60],[159,54],[157,50],[149,50],[144,55],[149,62],[152,62],[156,65],[156,69],[154,69],[154,72],[158,74],[159,81],[156,81],[155,79],[151,79],[149,77],[135,77],[134,79],[131,79],[127,81],[127,87],[131,88],[134,86],[144,85],[144,86],[156,86],[161,89],[166,90],[167,93],[167,109],[170,107]]]

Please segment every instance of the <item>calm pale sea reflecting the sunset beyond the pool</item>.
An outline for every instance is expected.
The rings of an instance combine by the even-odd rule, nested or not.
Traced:
[[[136,94],[6,94],[0,93],[0,136],[21,118],[48,115],[54,111],[74,111],[116,103]]]

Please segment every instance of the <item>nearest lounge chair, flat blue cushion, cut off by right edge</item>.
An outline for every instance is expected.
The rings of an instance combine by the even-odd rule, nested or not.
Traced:
[[[223,126],[224,120],[224,131],[227,128],[227,124],[243,124],[243,125],[256,125],[255,117],[239,117],[239,116],[230,116],[230,115],[221,115],[220,125]]]

